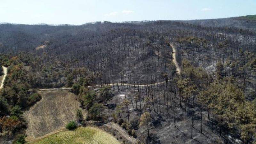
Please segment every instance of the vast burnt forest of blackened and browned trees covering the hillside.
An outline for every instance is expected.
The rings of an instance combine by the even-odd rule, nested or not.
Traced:
[[[72,87],[88,111],[80,123],[113,121],[145,143],[166,143],[167,131],[177,129],[185,138],[168,134],[178,143],[204,143],[205,133],[213,143],[255,140],[256,34],[250,29],[175,21],[1,24],[0,52],[0,64],[8,66],[2,135],[26,128],[22,111],[40,101],[36,89]],[[201,135],[194,137],[196,130]]]

